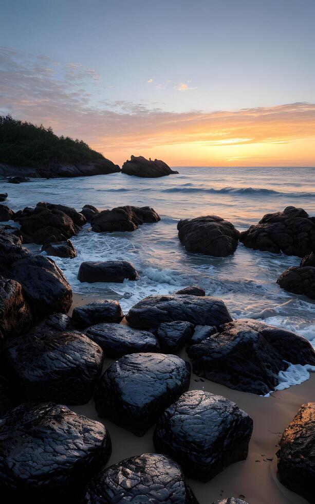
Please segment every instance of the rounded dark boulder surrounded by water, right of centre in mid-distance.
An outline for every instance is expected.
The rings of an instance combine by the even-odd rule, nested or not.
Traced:
[[[217,215],[183,219],[177,229],[180,242],[193,254],[227,257],[234,254],[238,244],[239,231]]]

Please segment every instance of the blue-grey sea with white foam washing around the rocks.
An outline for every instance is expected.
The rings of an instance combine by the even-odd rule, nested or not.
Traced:
[[[145,296],[173,293],[198,284],[207,295],[223,299],[234,318],[254,317],[293,330],[315,346],[315,302],[280,289],[276,279],[298,257],[275,255],[246,248],[239,243],[235,254],[214,258],[188,253],[177,237],[182,218],[215,214],[242,231],[265,213],[292,205],[315,215],[315,168],[269,167],[174,167],[178,175],[138,178],[114,173],[93,177],[32,179],[30,183],[1,184],[8,192],[6,204],[13,210],[40,201],[60,203],[81,210],[85,204],[99,209],[122,205],[151,206],[161,221],[143,224],[134,232],[95,233],[86,224],[71,239],[75,259],[54,257],[73,292],[119,299],[128,309]],[[33,251],[39,246],[31,246]],[[139,272],[137,282],[80,283],[83,261],[122,259]],[[314,369],[315,370],[315,369]],[[303,378],[304,376],[304,378]],[[302,366],[291,367],[280,387],[300,383],[309,376]]]

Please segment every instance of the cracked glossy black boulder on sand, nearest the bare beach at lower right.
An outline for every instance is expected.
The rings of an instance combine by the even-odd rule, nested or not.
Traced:
[[[162,413],[153,441],[156,452],[178,462],[186,476],[209,481],[246,459],[252,430],[252,419],[237,404],[190,390]]]

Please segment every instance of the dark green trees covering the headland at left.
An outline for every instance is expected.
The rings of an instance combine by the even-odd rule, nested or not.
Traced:
[[[0,116],[0,163],[38,167],[49,163],[86,163],[104,156],[82,140],[57,136],[52,128]]]

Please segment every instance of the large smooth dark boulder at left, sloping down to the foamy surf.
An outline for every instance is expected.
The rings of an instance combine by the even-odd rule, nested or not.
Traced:
[[[15,261],[7,274],[21,283],[31,312],[37,318],[69,311],[71,287],[61,269],[49,257],[30,255]]]

